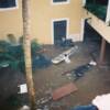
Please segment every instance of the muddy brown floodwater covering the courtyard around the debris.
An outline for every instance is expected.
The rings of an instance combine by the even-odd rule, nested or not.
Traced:
[[[33,73],[34,85],[36,90],[36,100],[52,94],[55,89],[68,84],[74,82],[78,90],[59,100],[51,101],[46,103],[50,110],[69,110],[72,107],[78,105],[88,105],[91,100],[102,94],[110,92],[110,69],[99,68],[95,66],[88,73],[85,73],[78,80],[74,80],[74,77],[63,76],[64,72],[70,70],[89,63],[92,57],[90,56],[90,48],[85,43],[76,43],[78,45],[77,52],[70,57],[70,64],[62,62],[58,65],[51,65],[50,67],[36,69]],[[92,46],[92,45],[91,45]],[[52,45],[45,45],[44,55],[48,58],[53,58],[64,52],[64,48],[54,47]],[[10,68],[0,69],[0,110],[16,110],[12,106],[8,107],[8,98],[12,95],[16,95],[21,98],[21,101],[25,103],[28,101],[28,95],[18,95],[18,85],[25,82],[24,75],[19,72],[11,70]],[[2,108],[1,108],[2,107]],[[7,107],[7,109],[4,108]]]

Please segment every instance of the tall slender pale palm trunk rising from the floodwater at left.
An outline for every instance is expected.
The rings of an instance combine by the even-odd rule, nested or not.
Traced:
[[[35,90],[33,85],[32,61],[31,61],[30,0],[22,0],[22,19],[23,19],[23,46],[24,46],[26,84],[28,84],[31,110],[35,110]]]

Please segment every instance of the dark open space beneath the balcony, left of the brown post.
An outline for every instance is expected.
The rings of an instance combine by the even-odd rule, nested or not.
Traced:
[[[90,56],[96,62],[99,61],[102,36],[85,21],[84,44],[88,47]]]

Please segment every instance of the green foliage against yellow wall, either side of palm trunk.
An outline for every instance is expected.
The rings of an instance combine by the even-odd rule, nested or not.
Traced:
[[[19,42],[19,44],[13,45],[13,41],[0,41],[0,66],[2,67],[8,63],[12,69],[19,69],[24,73],[23,37],[20,37]],[[36,56],[36,52],[40,50],[41,45],[36,40],[33,40],[31,42],[32,58]]]

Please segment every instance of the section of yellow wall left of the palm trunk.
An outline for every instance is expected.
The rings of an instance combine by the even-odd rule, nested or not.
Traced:
[[[19,1],[19,9],[0,11],[0,40],[6,40],[10,33],[16,37],[22,35],[21,0]]]

